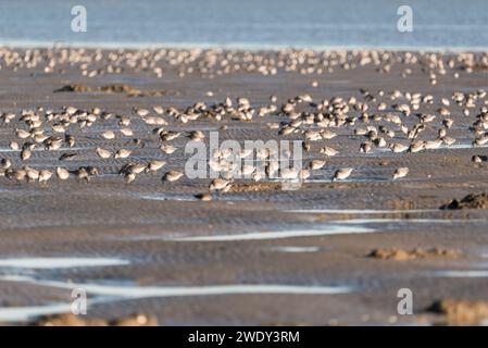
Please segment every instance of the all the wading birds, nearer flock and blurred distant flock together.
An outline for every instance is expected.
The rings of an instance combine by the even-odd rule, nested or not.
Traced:
[[[335,70],[352,70],[360,66],[372,65],[379,74],[389,74],[392,66],[402,67],[401,76],[406,77],[414,69],[421,69],[428,76],[430,85],[436,85],[439,76],[451,74],[459,78],[460,73],[472,73],[488,69],[488,53],[456,53],[443,55],[439,53],[411,53],[388,51],[349,51],[349,52],[318,52],[313,50],[280,50],[267,52],[227,51],[227,50],[85,50],[57,48],[48,50],[11,50],[0,48],[0,70],[16,72],[22,69],[41,69],[47,74],[63,74],[67,69],[79,69],[82,75],[96,77],[103,74],[122,74],[127,72],[149,73],[161,77],[165,72],[176,71],[179,77],[186,74],[199,73],[203,77],[213,78],[218,75],[232,73],[259,73],[275,75],[278,73],[299,73],[302,75],[329,74]],[[312,86],[317,83],[313,82]],[[133,121],[139,117],[145,124],[152,126],[152,135],[160,141],[157,151],[172,154],[177,147],[172,144],[178,137],[188,137],[190,140],[204,141],[205,133],[199,129],[191,132],[174,130],[174,124],[187,124],[196,120],[236,120],[252,122],[255,117],[281,116],[280,122],[266,122],[267,127],[275,129],[279,138],[300,137],[303,140],[303,150],[310,152],[311,142],[333,139],[337,132],[352,129],[350,135],[363,140],[359,151],[368,153],[375,148],[390,149],[392,152],[418,152],[449,147],[456,140],[450,136],[454,119],[451,117],[451,107],[455,105],[471,120],[467,127],[473,135],[473,146],[488,144],[488,101],[484,90],[453,92],[448,98],[436,98],[429,94],[393,91],[360,90],[360,97],[346,96],[314,101],[310,95],[301,95],[278,104],[277,98],[272,96],[270,103],[264,107],[253,107],[245,97],[233,100],[226,98],[223,102],[208,104],[197,102],[191,107],[179,110],[174,107],[157,105],[151,109],[134,109],[134,115],[114,114],[100,108],[79,110],[74,107],[64,107],[61,110],[22,110],[20,113],[4,112],[0,122],[2,127],[9,127],[15,133],[16,140],[10,142],[13,151],[18,151],[18,162],[14,158],[3,158],[0,163],[0,175],[17,182],[47,183],[54,175],[59,179],[68,179],[75,176],[78,179],[89,181],[101,174],[96,166],[87,165],[68,169],[59,165],[55,170],[35,169],[28,165],[32,151],[60,151],[73,148],[76,137],[84,137],[84,128],[96,123],[117,120],[117,127],[100,132],[99,139],[107,140],[127,138],[128,147],[114,146],[110,148],[97,147],[92,151],[104,160],[126,159],[120,169],[120,174],[127,183],[136,179],[142,173],[157,173],[162,171],[166,161],[154,153],[154,159],[141,162],[137,157],[137,147],[142,148],[145,140],[137,137],[132,128]],[[421,112],[423,107],[433,110],[429,113]],[[433,108],[434,107],[434,108]],[[168,121],[172,119],[171,121]],[[275,119],[273,119],[275,120]],[[464,122],[463,122],[464,123]],[[9,125],[10,124],[10,125]],[[12,124],[14,126],[12,126]],[[221,128],[225,129],[227,125]],[[435,129],[437,136],[423,139],[420,135],[425,129]],[[147,134],[145,134],[146,136]],[[105,146],[107,147],[107,146]],[[280,169],[276,161],[271,159],[275,153],[271,149],[256,151],[258,160],[267,163],[265,174],[284,179],[306,179],[312,171],[327,165],[328,158],[339,152],[330,146],[322,147],[321,159],[311,160],[309,165],[301,170]],[[228,158],[235,153],[215,151],[211,154],[208,165],[221,173],[210,184],[210,191],[228,191],[234,178],[234,161]],[[241,158],[254,153],[242,151]],[[76,157],[76,152],[64,152],[59,162]],[[474,161],[481,160],[479,157]],[[331,181],[348,178],[353,172],[352,167],[341,167],[335,171]],[[262,174],[254,165],[246,165],[240,173],[253,181],[263,179]],[[391,173],[393,179],[409,174],[408,167],[398,167]],[[176,182],[184,176],[178,171],[167,171],[163,181]],[[201,195],[202,199],[210,199],[210,195]]]

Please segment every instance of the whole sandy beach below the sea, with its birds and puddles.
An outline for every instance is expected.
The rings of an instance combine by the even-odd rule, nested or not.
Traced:
[[[107,321],[141,313],[159,325],[483,323],[487,198],[452,201],[488,192],[487,61],[374,50],[0,48],[0,159],[10,162],[0,176],[0,322],[70,312],[72,290],[84,288],[87,318]],[[216,112],[227,97],[236,110],[238,98],[249,100],[246,112]],[[63,114],[75,120],[59,122]],[[185,172],[196,130],[205,144],[211,132],[240,144],[305,140],[303,167],[325,163],[295,190],[238,178],[201,200],[212,178],[164,181]],[[49,149],[42,135],[62,145]],[[406,148],[392,151],[395,144]],[[120,149],[130,153],[114,158]],[[126,164],[155,160],[166,162],[155,173],[130,183],[121,175]],[[26,166],[52,176],[15,178]],[[67,179],[57,176],[60,166]],[[87,179],[82,167],[97,171]],[[347,167],[347,178],[331,181]],[[408,174],[393,179],[400,167]],[[413,315],[397,312],[401,288],[414,295]],[[471,303],[468,314],[433,310],[445,300]]]

